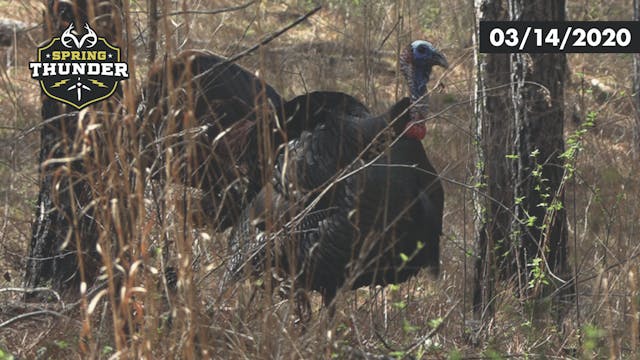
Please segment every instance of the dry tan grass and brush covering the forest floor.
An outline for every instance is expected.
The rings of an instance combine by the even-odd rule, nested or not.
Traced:
[[[167,2],[171,11],[216,9],[240,1]],[[112,308],[113,281],[99,282],[77,303],[52,297],[24,304],[21,293],[0,292],[0,359],[10,358],[634,358],[638,355],[637,241],[640,207],[638,161],[631,148],[635,112],[631,98],[631,56],[571,55],[567,88],[567,135],[576,130],[572,110],[584,119],[597,112],[596,126],[584,138],[576,181],[569,184],[571,264],[578,275],[578,297],[562,322],[545,305],[517,299],[509,284],[499,287],[496,316],[476,324],[471,312],[474,227],[469,184],[474,169],[471,130],[473,91],[472,9],[468,1],[326,1],[324,9],[301,26],[242,59],[284,97],[307,90],[339,90],[381,111],[404,94],[396,75],[395,54],[410,39],[426,38],[443,49],[454,65],[444,87],[432,96],[440,116],[429,126],[425,147],[445,182],[442,274],[421,274],[400,286],[359,289],[338,296],[335,317],[313,297],[313,317],[296,321],[295,304],[240,284],[222,291],[219,267],[226,235],[190,224],[195,195],[175,185],[155,186],[161,211],[149,196],[135,197],[143,216],[133,214],[136,236],[120,253],[107,277],[123,279],[126,299]],[[265,1],[217,15],[173,16],[161,23],[160,54],[203,48],[230,56],[251,46],[312,7],[307,1]],[[572,20],[626,20],[623,1],[569,1]],[[17,9],[17,10],[15,10]],[[40,1],[0,1],[0,16],[40,21]],[[131,21],[137,79],[144,79],[146,5],[132,3]],[[396,24],[398,15],[402,22]],[[169,35],[166,35],[166,32]],[[389,36],[388,36],[389,35]],[[388,38],[387,38],[388,36]],[[20,287],[37,194],[39,89],[27,63],[43,40],[36,29],[12,48],[0,49],[0,288]],[[584,79],[584,80],[583,80]],[[592,79],[607,85],[594,87]],[[136,90],[141,84],[132,84]],[[135,110],[133,110],[135,111]],[[132,113],[132,110],[129,110]],[[112,127],[117,127],[116,122]],[[125,146],[115,143],[111,146]],[[114,151],[115,152],[115,151]],[[107,160],[108,161],[108,160]],[[96,165],[105,165],[97,163]],[[94,174],[95,175],[95,174]],[[122,196],[117,177],[93,176],[96,188]],[[108,193],[105,192],[105,193]],[[125,194],[126,195],[126,194]],[[104,201],[103,201],[104,200]],[[109,199],[102,199],[107,204]],[[119,208],[122,210],[122,208]],[[101,213],[102,214],[102,213]],[[107,214],[107,215],[105,215]],[[105,219],[109,217],[105,211]],[[106,220],[105,220],[106,221]],[[108,226],[106,227],[108,228]],[[163,237],[172,241],[164,264]],[[111,237],[101,233],[107,246]],[[105,249],[105,251],[108,251]],[[166,291],[161,270],[179,269],[176,290]],[[116,269],[116,267],[112,267]],[[115,271],[115,273],[112,273]],[[100,285],[102,284],[102,285]],[[0,289],[1,290],[1,289]],[[75,301],[75,300],[73,300]],[[436,330],[436,331],[434,331]],[[406,350],[410,350],[406,353]]]

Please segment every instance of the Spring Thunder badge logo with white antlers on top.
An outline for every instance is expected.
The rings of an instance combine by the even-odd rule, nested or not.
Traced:
[[[71,23],[60,37],[38,48],[37,62],[29,63],[31,77],[47,96],[78,110],[113,95],[118,82],[129,78],[120,49],[98,37],[89,24],[84,29],[80,36]]]

